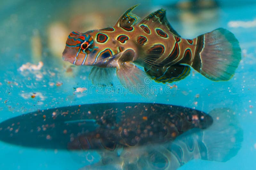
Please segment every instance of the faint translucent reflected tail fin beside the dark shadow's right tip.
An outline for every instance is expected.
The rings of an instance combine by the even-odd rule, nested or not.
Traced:
[[[243,130],[239,126],[236,115],[227,108],[215,109],[209,114],[214,123],[203,131],[202,143],[206,147],[207,157],[201,157],[201,159],[226,162],[241,148]],[[201,150],[201,155],[202,152]]]

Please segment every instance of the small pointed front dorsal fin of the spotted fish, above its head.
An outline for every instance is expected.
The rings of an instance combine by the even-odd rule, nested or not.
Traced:
[[[124,14],[117,20],[115,26],[119,27],[130,27],[135,25],[140,17],[132,13],[132,10],[136,8],[139,4],[134,5],[133,7],[129,8]]]

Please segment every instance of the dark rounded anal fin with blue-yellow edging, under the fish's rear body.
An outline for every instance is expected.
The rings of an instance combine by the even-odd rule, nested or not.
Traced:
[[[180,81],[188,76],[190,67],[186,65],[173,65],[169,67],[153,67],[151,69],[144,68],[145,72],[150,75],[156,82],[173,82]]]

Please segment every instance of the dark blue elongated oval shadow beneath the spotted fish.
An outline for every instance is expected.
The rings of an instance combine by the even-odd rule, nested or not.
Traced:
[[[205,129],[211,124],[209,115],[181,106],[84,104],[5,120],[0,124],[0,140],[37,148],[114,150],[116,146],[163,143],[194,127]]]

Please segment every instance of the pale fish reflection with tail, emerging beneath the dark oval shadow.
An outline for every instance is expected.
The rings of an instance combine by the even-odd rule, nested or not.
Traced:
[[[175,170],[193,159],[226,162],[236,156],[240,150],[243,130],[236,114],[228,108],[212,110],[209,115],[213,118],[213,124],[207,129],[193,128],[174,141],[163,144],[126,147],[115,153],[107,150],[97,151],[101,160],[80,170]],[[86,153],[84,159],[91,154],[87,151],[84,153]]]

